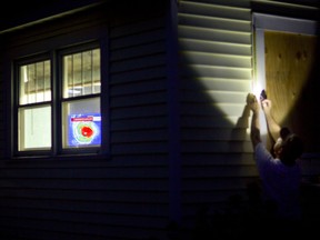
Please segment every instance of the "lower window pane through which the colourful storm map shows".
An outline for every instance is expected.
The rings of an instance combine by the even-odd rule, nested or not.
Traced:
[[[100,98],[63,102],[62,137],[63,148],[100,146]]]

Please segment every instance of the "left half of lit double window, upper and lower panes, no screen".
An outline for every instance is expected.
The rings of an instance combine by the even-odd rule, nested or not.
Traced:
[[[51,149],[50,61],[19,68],[18,149]]]

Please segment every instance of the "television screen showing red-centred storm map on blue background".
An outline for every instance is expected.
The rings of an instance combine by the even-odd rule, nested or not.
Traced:
[[[101,114],[70,114],[68,146],[98,146],[101,143]]]

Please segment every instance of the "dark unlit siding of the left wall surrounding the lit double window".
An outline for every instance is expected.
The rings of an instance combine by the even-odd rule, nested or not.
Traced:
[[[140,13],[139,6],[123,9],[131,16],[116,7],[118,12],[99,7],[4,34],[11,58],[30,53],[28,46],[41,52],[61,42],[102,38],[109,48],[109,61],[102,66],[109,73],[102,81],[109,86],[110,158],[10,160],[2,152],[3,240],[164,239],[167,234],[166,14],[161,10],[166,6],[153,2],[154,14]],[[2,74],[1,86],[3,79]],[[9,100],[4,99],[1,94],[0,112]]]

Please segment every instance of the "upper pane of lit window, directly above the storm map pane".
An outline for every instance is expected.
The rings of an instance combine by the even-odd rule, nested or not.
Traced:
[[[100,93],[100,49],[63,57],[63,98]]]

